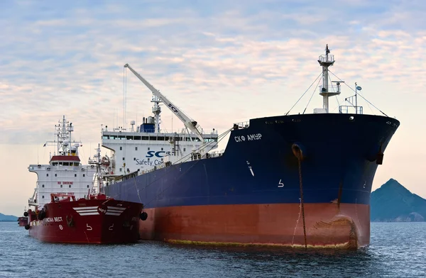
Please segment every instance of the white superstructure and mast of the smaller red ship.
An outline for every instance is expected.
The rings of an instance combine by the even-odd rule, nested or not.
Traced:
[[[29,206],[43,208],[50,202],[50,194],[75,195],[85,198],[92,191],[95,165],[82,165],[78,156],[81,143],[71,140],[74,126],[65,116],[55,125],[55,140],[46,145],[56,145],[57,152],[50,156],[49,164],[30,165],[28,170],[37,174],[33,196],[28,199]]]

